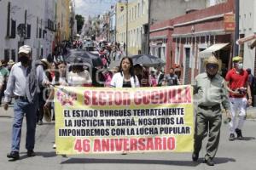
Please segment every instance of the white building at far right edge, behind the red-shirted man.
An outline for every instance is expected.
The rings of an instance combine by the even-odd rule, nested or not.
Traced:
[[[240,45],[240,54],[243,56],[244,68],[251,68],[255,76],[255,48],[252,47],[255,43],[256,34],[256,1],[255,0],[240,0],[240,20],[239,34],[244,38],[244,43]],[[251,38],[253,37],[253,38]]]

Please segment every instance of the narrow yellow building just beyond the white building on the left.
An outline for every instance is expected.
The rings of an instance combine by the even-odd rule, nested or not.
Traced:
[[[56,41],[61,42],[63,40],[70,39],[70,0],[58,0],[57,1],[57,32]]]

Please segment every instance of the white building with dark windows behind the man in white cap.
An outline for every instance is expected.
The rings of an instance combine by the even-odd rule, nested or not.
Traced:
[[[18,60],[22,42],[32,47],[32,58],[50,54],[55,31],[55,0],[0,1],[0,59]],[[24,37],[19,36],[20,27]]]

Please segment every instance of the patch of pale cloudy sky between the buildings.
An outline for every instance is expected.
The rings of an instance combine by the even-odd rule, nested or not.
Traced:
[[[102,14],[118,0],[75,0],[76,14],[83,16]]]

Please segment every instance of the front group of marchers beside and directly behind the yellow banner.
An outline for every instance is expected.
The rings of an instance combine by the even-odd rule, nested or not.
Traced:
[[[112,48],[114,51],[115,43]],[[176,68],[164,73],[160,66],[149,68],[145,65],[134,65],[131,57],[125,55],[120,56],[119,65],[108,69],[113,60],[116,60],[113,59],[113,55],[111,57],[113,51],[108,51],[108,47],[99,49],[102,63],[104,59],[107,61],[105,65],[97,66],[97,78],[92,76],[90,68],[84,66],[84,59],[79,56],[73,59],[72,65],[57,56],[32,60],[32,48],[28,45],[19,48],[19,62],[0,62],[0,100],[2,101],[4,96],[5,110],[9,109],[10,103],[14,103],[11,151],[7,157],[12,160],[20,158],[21,126],[24,116],[27,156],[36,156],[34,145],[37,123],[42,125],[44,116],[55,120],[52,103],[54,86],[98,87],[97,84],[101,84],[100,87],[139,88],[181,85],[180,72]],[[192,159],[198,160],[202,140],[208,133],[207,154],[204,157],[209,166],[214,165],[212,160],[218,150],[222,108],[230,126],[229,140],[241,140],[247,106],[253,102],[252,74],[250,70],[243,69],[241,57],[236,56],[232,60],[233,68],[228,71],[226,77],[221,77],[218,74],[218,59],[212,55],[205,60],[206,71],[195,77],[192,84],[196,102]],[[93,81],[94,79],[100,80],[99,83]],[[54,145],[55,147],[58,146]]]

